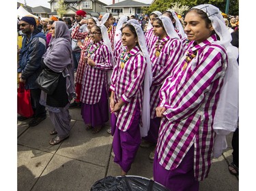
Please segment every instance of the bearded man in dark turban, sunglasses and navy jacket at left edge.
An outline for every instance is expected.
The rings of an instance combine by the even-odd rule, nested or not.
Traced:
[[[33,119],[29,122],[29,126],[35,126],[46,118],[45,107],[39,103],[41,90],[35,85],[35,80],[42,71],[41,58],[46,49],[46,37],[36,27],[36,18],[33,16],[23,16],[19,25],[24,37],[19,54],[18,73],[20,73],[20,83],[25,84],[25,89],[30,89]],[[27,119],[18,116],[20,121]]]

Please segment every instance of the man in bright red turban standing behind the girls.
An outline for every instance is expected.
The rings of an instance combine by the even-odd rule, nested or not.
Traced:
[[[76,14],[74,15],[74,18],[76,20],[76,23],[69,29],[70,33],[72,32],[72,29],[76,28],[77,24],[83,19],[83,17],[86,15],[86,12],[83,10],[78,10]],[[79,33],[85,32],[87,29],[87,24],[83,24],[79,28]],[[81,40],[83,43],[83,40]],[[80,60],[80,55],[81,55],[81,48],[77,46],[77,39],[72,39],[72,51],[73,51],[73,59],[74,59],[74,71],[76,71],[78,65],[79,65],[79,60]]]

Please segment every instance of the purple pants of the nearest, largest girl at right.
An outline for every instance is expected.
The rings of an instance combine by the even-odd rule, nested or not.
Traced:
[[[194,176],[194,146],[190,147],[180,165],[173,171],[168,171],[159,164],[158,154],[155,154],[153,175],[154,181],[173,191],[198,191],[199,181]]]

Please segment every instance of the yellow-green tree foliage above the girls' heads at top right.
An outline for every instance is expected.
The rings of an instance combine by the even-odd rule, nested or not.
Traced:
[[[200,4],[212,4],[216,7],[218,7],[221,12],[225,12],[226,7],[226,1],[227,0],[155,0],[150,7],[145,7],[144,13],[150,14],[154,11],[164,12],[168,10],[170,7],[175,5],[175,2],[178,2],[180,5],[186,5],[189,8],[194,7],[195,5]],[[239,0],[230,0],[229,1],[229,12],[228,14],[231,15],[238,15],[239,14]]]

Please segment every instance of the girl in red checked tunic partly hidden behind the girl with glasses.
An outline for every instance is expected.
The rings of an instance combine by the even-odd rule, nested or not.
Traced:
[[[78,41],[77,44],[81,48],[81,56],[79,59],[79,66],[77,67],[76,70],[76,99],[74,101],[76,104],[80,103],[80,95],[81,95],[81,88],[82,88],[82,80],[83,80],[83,75],[84,75],[84,70],[85,70],[85,65],[83,63],[83,57],[85,56],[87,46],[91,43],[91,37],[89,36],[88,32],[79,32],[79,28],[81,25],[85,24],[87,22],[87,29],[89,33],[91,33],[91,27],[94,27],[96,24],[99,24],[99,21],[95,17],[91,17],[88,20],[82,19],[79,23],[77,24],[76,28],[72,30],[71,33],[71,38],[72,39],[84,39],[83,43],[81,41]],[[72,106],[72,104],[70,105]],[[72,107],[70,107],[72,108]]]

